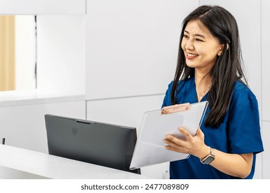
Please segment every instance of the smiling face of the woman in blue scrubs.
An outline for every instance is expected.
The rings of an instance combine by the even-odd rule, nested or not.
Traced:
[[[184,29],[181,48],[190,68],[209,72],[215,65],[217,55],[222,53],[223,46],[197,20],[189,21]]]

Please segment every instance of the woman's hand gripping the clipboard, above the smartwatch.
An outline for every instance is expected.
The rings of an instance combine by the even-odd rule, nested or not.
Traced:
[[[171,134],[165,136],[164,143],[167,144],[165,146],[167,150],[192,154],[200,159],[209,154],[210,148],[204,143],[204,133],[200,128],[198,128],[195,136],[192,136],[184,128],[179,128],[179,132],[183,134],[183,139],[179,139]]]

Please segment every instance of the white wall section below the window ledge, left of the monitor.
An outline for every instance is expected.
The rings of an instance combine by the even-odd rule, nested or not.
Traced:
[[[6,145],[48,152],[44,114],[85,119],[85,101],[0,108],[0,139]]]

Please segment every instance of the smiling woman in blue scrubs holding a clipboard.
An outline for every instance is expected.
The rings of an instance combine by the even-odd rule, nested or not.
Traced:
[[[209,105],[197,134],[179,128],[184,139],[164,139],[167,150],[190,154],[170,163],[170,178],[252,179],[264,150],[258,101],[245,78],[237,21],[219,6],[200,6],[183,20],[163,107],[199,101]]]

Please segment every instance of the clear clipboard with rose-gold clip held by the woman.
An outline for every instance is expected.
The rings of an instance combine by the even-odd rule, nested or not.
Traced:
[[[166,150],[163,139],[166,134],[183,138],[178,130],[179,127],[185,128],[195,136],[207,107],[208,101],[203,101],[172,105],[161,110],[145,112],[129,169],[135,170],[147,165],[188,159],[190,154]]]

